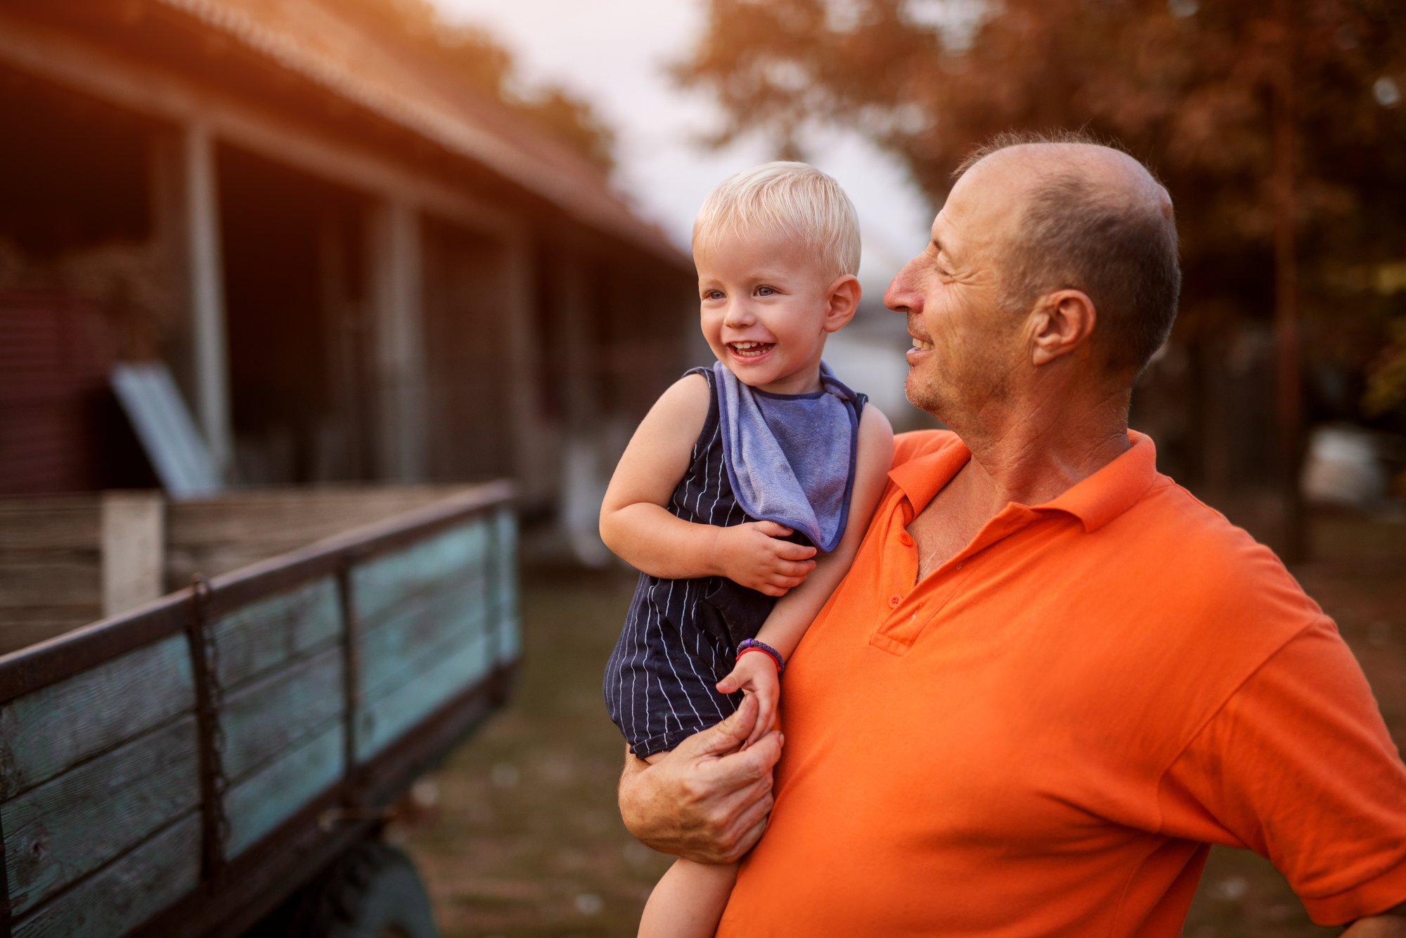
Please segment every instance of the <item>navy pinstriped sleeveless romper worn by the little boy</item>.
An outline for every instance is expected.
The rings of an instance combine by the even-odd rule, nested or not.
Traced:
[[[755,521],[737,504],[727,479],[713,372],[695,368],[688,374],[703,375],[713,396],[688,472],[666,508],[697,524]],[[859,407],[863,400],[860,395]],[[811,543],[801,534],[789,539]],[[738,708],[741,691],[718,694],[714,685],[733,670],[737,643],[756,636],[775,602],[727,577],[664,580],[640,574],[603,687],[610,719],[636,755],[668,751]]]

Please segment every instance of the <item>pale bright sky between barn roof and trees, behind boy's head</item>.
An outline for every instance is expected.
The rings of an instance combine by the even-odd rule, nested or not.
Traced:
[[[529,84],[555,83],[588,101],[616,132],[616,187],[637,212],[688,249],[693,215],[724,178],[775,157],[762,140],[707,150],[721,126],[704,93],[665,72],[704,28],[703,0],[434,0],[446,20],[486,28],[512,51]],[[858,136],[814,146],[807,159],[834,176],[859,209],[866,296],[928,242],[932,212],[893,157]]]

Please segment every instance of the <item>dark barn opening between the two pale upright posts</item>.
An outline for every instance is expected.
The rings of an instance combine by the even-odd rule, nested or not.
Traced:
[[[217,160],[240,480],[366,479],[367,201],[232,146]]]

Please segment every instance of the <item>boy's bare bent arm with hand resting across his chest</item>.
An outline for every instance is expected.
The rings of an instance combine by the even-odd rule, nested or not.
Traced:
[[[673,383],[630,438],[600,504],[600,539],[626,563],[669,580],[724,576],[769,595],[806,579],[814,548],[780,541],[770,521],[720,528],[678,518],[664,507],[689,469],[711,392],[702,375]]]

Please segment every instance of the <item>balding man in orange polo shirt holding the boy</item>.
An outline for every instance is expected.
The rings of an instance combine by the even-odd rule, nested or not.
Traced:
[[[900,437],[787,667],[769,826],[782,739],[737,751],[754,706],[627,758],[645,843],[756,844],[720,935],[1170,938],[1212,843],[1270,857],[1317,921],[1406,935],[1406,767],[1361,670],[1128,431],[1178,286],[1137,161],[1067,139],[969,160],[884,298],[908,399],[953,432]]]

